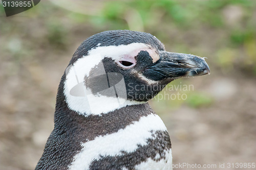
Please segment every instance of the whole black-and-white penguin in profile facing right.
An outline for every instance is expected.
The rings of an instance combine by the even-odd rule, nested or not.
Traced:
[[[149,33],[87,38],[61,77],[35,170],[172,169],[169,134],[147,102],[175,79],[209,73],[204,58],[167,52]]]

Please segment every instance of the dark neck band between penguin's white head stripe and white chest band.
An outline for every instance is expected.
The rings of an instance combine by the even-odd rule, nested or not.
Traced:
[[[116,133],[150,114],[155,114],[155,112],[148,103],[130,105],[99,115],[81,115],[70,110],[67,104],[63,103],[56,107],[54,128],[60,133],[72,133],[79,136],[80,142],[86,142],[97,136]]]

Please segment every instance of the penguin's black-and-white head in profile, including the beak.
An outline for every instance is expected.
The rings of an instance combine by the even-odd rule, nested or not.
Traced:
[[[204,58],[166,52],[149,33],[113,30],[81,43],[62,82],[65,102],[80,114],[145,103],[180,77],[209,74]]]

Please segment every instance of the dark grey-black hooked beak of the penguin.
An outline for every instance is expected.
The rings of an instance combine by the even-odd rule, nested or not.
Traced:
[[[191,54],[160,52],[160,59],[148,67],[146,77],[159,81],[166,78],[194,77],[210,74],[210,68],[204,58]]]

